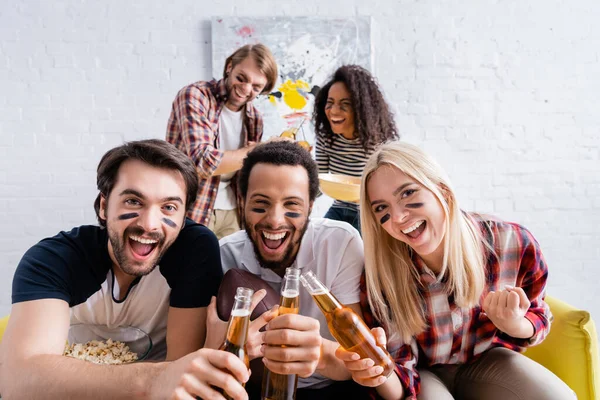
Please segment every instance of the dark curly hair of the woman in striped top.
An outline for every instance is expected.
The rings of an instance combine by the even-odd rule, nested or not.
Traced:
[[[313,122],[318,136],[326,139],[328,143],[331,143],[335,136],[325,115],[325,104],[329,89],[336,82],[344,83],[350,92],[354,110],[354,129],[365,151],[370,147],[400,138],[396,130],[394,114],[383,98],[375,78],[369,71],[358,65],[339,67],[329,82],[317,93]]]

